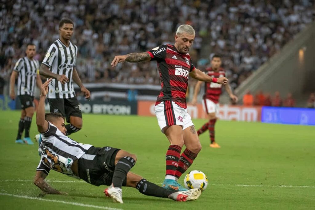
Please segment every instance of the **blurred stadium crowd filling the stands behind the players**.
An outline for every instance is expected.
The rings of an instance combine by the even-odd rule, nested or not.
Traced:
[[[308,0],[57,0],[4,1],[0,12],[0,86],[27,43],[37,46],[41,61],[58,38],[58,22],[75,22],[72,42],[79,48],[77,70],[83,82],[159,84],[155,62],[110,67],[117,54],[146,51],[173,43],[178,25],[196,30],[190,54],[199,69],[211,52],[220,54],[232,88],[314,20]],[[210,39],[209,39],[210,38]],[[0,87],[1,88],[1,87]]]

